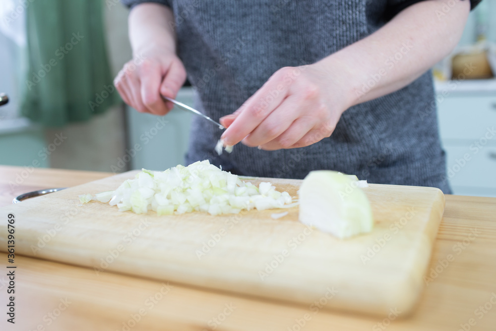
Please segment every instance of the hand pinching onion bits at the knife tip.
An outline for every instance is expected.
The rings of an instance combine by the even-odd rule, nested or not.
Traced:
[[[340,75],[340,76],[336,76]],[[346,77],[320,63],[284,67],[220,123],[225,145],[242,141],[264,150],[311,145],[334,131],[352,105]]]

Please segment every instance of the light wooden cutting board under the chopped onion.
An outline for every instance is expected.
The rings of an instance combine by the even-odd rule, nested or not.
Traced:
[[[304,304],[406,316],[424,287],[444,209],[438,189],[371,185],[374,230],[339,240],[298,221],[298,207],[211,216],[119,212],[78,195],[115,190],[136,171],[0,208],[15,215],[16,254]],[[300,180],[270,181],[296,196]],[[6,250],[1,223],[0,250]]]

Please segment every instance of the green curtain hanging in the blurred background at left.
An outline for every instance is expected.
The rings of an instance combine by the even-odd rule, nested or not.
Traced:
[[[120,102],[104,37],[102,0],[30,2],[22,115],[48,127],[87,121]]]

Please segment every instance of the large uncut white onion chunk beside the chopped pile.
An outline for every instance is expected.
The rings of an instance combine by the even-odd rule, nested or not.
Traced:
[[[335,171],[311,171],[299,191],[300,221],[341,239],[372,231],[371,205],[359,182]]]

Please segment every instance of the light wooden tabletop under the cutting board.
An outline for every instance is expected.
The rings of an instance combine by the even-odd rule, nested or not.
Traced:
[[[0,166],[0,205],[29,191],[75,186],[111,175]],[[0,217],[5,222],[7,215]],[[1,271],[0,330],[495,331],[495,218],[495,198],[446,196],[426,290],[409,317],[310,311],[283,302],[16,256],[16,324],[6,323],[8,279]],[[2,270],[7,270],[6,260],[0,254]]]

